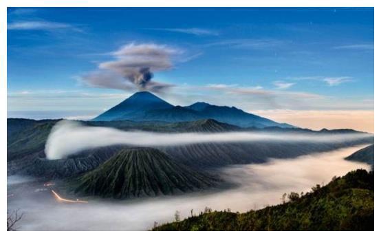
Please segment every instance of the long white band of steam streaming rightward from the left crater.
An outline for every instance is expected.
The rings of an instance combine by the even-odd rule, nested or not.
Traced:
[[[153,133],[121,131],[109,127],[87,127],[79,122],[62,120],[52,129],[45,144],[45,154],[50,160],[59,160],[79,151],[126,144],[137,147],[177,146],[208,142],[338,142],[367,138],[367,134],[305,135],[295,133]]]

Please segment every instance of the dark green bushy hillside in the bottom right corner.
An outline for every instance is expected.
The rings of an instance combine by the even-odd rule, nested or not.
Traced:
[[[247,213],[211,212],[153,230],[374,230],[374,174],[334,178],[290,202]]]

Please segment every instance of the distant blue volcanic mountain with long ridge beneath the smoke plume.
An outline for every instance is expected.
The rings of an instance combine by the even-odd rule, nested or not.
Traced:
[[[247,113],[236,107],[221,107],[206,102],[196,102],[188,107],[174,106],[148,91],[133,94],[94,118],[93,121],[187,122],[203,119],[214,119],[239,127],[294,127]]]

